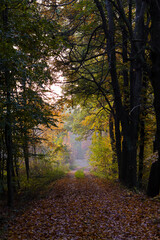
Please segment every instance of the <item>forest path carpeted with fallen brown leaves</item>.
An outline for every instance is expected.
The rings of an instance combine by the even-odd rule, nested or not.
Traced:
[[[8,240],[160,239],[160,202],[74,172],[10,219]],[[1,236],[0,236],[1,239]]]

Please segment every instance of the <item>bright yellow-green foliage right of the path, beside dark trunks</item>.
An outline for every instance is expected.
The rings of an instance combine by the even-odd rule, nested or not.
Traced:
[[[91,101],[92,100],[92,101]],[[77,106],[66,118],[69,130],[78,134],[78,140],[92,137],[89,148],[89,164],[98,174],[117,177],[118,164],[113,162],[112,148],[108,134],[108,112],[97,103],[96,98],[88,99],[86,106]]]

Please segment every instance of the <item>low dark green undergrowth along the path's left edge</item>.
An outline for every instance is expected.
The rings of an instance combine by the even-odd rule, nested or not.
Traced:
[[[32,200],[45,198],[53,189],[56,180],[65,175],[66,171],[62,168],[43,168],[43,170],[36,169],[36,171],[31,169],[30,178],[27,180],[25,172],[22,171],[19,179],[20,188],[14,192],[14,206],[10,209],[9,214],[6,206],[7,192],[3,193],[3,199],[0,196],[0,239],[8,239],[4,233],[7,231],[10,217],[14,218],[27,209],[32,204]]]

